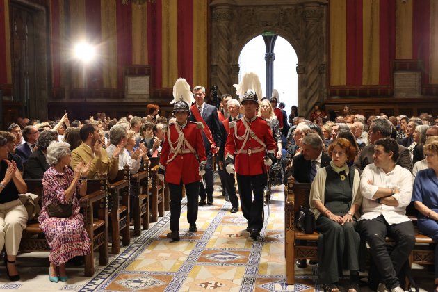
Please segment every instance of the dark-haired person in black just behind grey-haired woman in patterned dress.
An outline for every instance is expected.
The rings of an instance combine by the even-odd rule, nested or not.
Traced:
[[[47,164],[47,147],[53,141],[58,141],[58,133],[53,130],[42,131],[38,137],[37,147],[38,150],[33,152],[29,159],[27,159],[26,172],[24,173],[25,179],[42,179],[44,172],[49,169]]]

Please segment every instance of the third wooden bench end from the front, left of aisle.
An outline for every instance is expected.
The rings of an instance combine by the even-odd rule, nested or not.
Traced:
[[[134,236],[140,236],[141,227],[149,229],[149,161],[142,162],[140,170],[130,177],[133,195]]]

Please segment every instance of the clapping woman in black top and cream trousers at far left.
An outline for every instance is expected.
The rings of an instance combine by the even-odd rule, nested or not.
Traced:
[[[27,211],[18,198],[27,186],[14,161],[8,161],[7,139],[0,136],[0,250],[6,250],[4,261],[10,281],[18,281],[15,267],[19,243],[26,228]]]

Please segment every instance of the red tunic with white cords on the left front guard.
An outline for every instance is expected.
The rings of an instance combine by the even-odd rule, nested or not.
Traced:
[[[188,121],[181,132],[184,133],[184,138],[195,153],[190,150],[185,141],[182,142],[179,151],[173,153],[170,143],[173,148],[176,148],[179,141],[179,131],[176,127],[179,127],[177,123],[169,124],[168,133],[164,136],[163,149],[161,149],[160,166],[165,167],[165,181],[170,184],[180,184],[181,179],[183,184],[200,181],[200,162],[206,161],[202,129],[197,129],[196,122]],[[177,156],[173,158],[175,155]]]

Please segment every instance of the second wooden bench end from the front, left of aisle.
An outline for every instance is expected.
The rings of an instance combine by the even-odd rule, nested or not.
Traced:
[[[108,181],[110,206],[108,218],[111,223],[111,254],[120,252],[120,236],[123,245],[129,245],[129,166],[117,172],[115,179]]]

